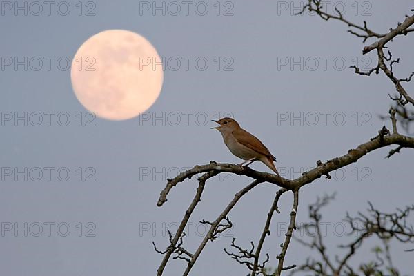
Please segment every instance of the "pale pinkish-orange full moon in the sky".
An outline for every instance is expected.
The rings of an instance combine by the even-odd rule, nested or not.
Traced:
[[[157,100],[164,78],[160,62],[157,50],[135,32],[99,32],[73,58],[72,88],[81,104],[98,117],[131,119]]]

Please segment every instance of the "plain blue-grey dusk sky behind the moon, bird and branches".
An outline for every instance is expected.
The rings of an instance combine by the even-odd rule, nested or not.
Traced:
[[[346,154],[384,125],[390,129],[380,116],[388,116],[391,81],[349,68],[375,66],[376,52],[362,55],[362,39],[342,22],[295,16],[304,2],[52,1],[48,9],[43,1],[1,1],[1,274],[156,275],[162,256],[152,241],[168,246],[168,230],[177,230],[197,188],[197,177],[184,181],[159,208],[166,179],[212,160],[242,162],[210,130],[212,119],[237,119],[277,157],[288,179],[317,160]],[[327,3],[328,12],[344,8],[346,18],[365,20],[380,33],[414,8],[408,0]],[[145,37],[165,61],[155,103],[120,121],[95,117],[82,105],[66,64],[87,39],[113,29]],[[388,44],[401,58],[395,66],[401,77],[413,71],[413,43],[408,35]],[[413,83],[406,88],[412,91]],[[384,159],[391,149],[375,150],[300,190],[297,224],[308,222],[308,204],[318,196],[336,193],[323,209],[332,258],[344,253],[337,244],[353,238],[343,233],[351,230],[342,221],[346,212],[357,215],[368,201],[389,212],[413,204],[413,150]],[[250,167],[271,172],[259,162]],[[214,221],[250,181],[223,173],[207,182],[186,230],[188,250],[208,230],[199,221]],[[257,242],[276,190],[262,184],[243,197],[229,215],[233,228],[207,244],[190,275],[246,275],[223,248],[233,249],[233,237],[245,248]],[[291,201],[290,194],[282,197],[264,246],[272,267]],[[351,263],[373,259],[377,242],[369,239]],[[412,244],[391,247],[395,266],[412,275],[413,253],[404,252]],[[285,264],[301,264],[311,254],[293,241]],[[164,275],[181,275],[185,267],[170,259]]]

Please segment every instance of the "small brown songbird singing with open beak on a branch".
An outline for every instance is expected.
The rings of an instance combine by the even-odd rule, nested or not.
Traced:
[[[224,144],[226,144],[230,152],[233,153],[233,155],[246,160],[246,162],[239,165],[242,166],[247,163],[246,166],[248,166],[248,164],[259,160],[266,164],[270,170],[273,170],[279,175],[275,164],[273,164],[273,161],[276,161],[276,157],[270,153],[268,148],[266,148],[257,137],[251,135],[243,128],[240,128],[239,123],[237,123],[235,119],[223,118],[215,122],[220,126],[216,126],[212,129],[219,130],[223,136]]]

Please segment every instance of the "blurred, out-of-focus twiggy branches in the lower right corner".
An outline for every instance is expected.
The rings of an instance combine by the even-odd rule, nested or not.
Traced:
[[[309,228],[320,228],[320,208],[325,206],[329,200],[333,197],[324,196],[322,200],[318,199],[315,204],[309,206],[309,217],[313,222],[304,224],[302,228],[306,228],[306,233],[311,233]],[[414,243],[414,228],[408,224],[408,216],[414,213],[414,205],[406,206],[404,209],[397,208],[395,213],[384,213],[373,207],[368,202],[368,214],[364,215],[358,213],[357,217],[351,217],[346,214],[344,221],[351,228],[351,233],[348,236],[352,237],[356,235],[356,238],[346,245],[339,245],[339,248],[347,250],[344,257],[336,257],[338,262],[337,266],[329,262],[326,253],[326,248],[322,244],[323,235],[317,233],[312,235],[313,242],[301,242],[304,246],[311,248],[311,250],[317,249],[323,262],[307,259],[306,263],[299,266],[294,273],[298,271],[313,271],[317,275],[357,275],[348,264],[351,257],[355,256],[357,249],[362,246],[365,239],[376,235],[384,243],[384,251],[376,247],[373,252],[375,253],[375,262],[368,262],[367,264],[361,264],[359,269],[364,272],[364,275],[384,275],[382,274],[382,268],[386,268],[387,272],[393,271],[391,275],[399,275],[396,268],[393,266],[391,261],[391,255],[389,253],[388,242],[390,239],[397,239],[402,243]],[[297,238],[296,238],[297,239]],[[300,241],[300,240],[299,240]],[[384,254],[382,254],[384,253]],[[325,265],[324,265],[325,264]],[[330,268],[331,271],[326,271],[326,267]],[[346,271],[346,272],[345,272]],[[291,273],[290,275],[293,275]],[[346,273],[346,274],[344,274]]]

